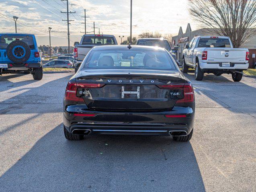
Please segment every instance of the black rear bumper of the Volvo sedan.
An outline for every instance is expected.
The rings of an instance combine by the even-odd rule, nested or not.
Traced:
[[[69,132],[88,130],[89,134],[132,134],[169,136],[170,131],[193,129],[195,110],[190,107],[174,107],[165,112],[105,112],[83,108],[84,105],[68,106],[63,113],[63,123]],[[95,116],[74,116],[94,114]],[[171,117],[166,115],[185,115]]]

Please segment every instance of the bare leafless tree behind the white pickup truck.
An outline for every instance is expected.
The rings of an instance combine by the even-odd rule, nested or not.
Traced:
[[[256,33],[256,0],[189,0],[190,14],[240,47]]]

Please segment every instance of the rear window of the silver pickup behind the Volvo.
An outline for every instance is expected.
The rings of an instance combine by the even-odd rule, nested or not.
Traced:
[[[82,45],[115,45],[113,37],[85,36]]]

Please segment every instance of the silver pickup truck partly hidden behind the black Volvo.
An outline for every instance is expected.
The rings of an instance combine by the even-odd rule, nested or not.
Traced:
[[[113,35],[92,35],[86,34],[82,36],[79,44],[74,47],[74,58],[77,61],[83,61],[86,54],[94,47],[101,45],[117,45],[117,40]]]

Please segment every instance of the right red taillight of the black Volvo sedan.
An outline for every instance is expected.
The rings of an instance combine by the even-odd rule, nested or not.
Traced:
[[[181,89],[184,92],[184,98],[178,99],[177,103],[193,102],[194,101],[194,90],[190,83],[185,84],[170,84],[170,85],[158,85],[161,89]]]

